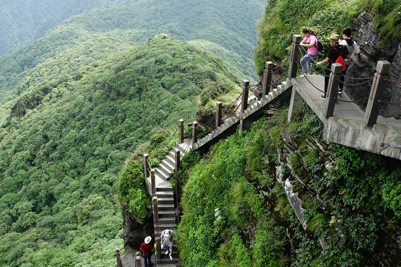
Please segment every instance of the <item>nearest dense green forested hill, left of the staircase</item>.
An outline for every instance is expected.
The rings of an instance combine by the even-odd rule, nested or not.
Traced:
[[[224,62],[171,36],[88,40],[34,67],[0,120],[2,266],[110,266],[123,247],[117,173],[179,118]]]

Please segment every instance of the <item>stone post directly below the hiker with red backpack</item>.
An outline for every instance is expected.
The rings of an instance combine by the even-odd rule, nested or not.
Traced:
[[[325,118],[330,118],[333,116],[334,106],[336,104],[336,100],[333,97],[337,96],[338,92],[338,84],[340,83],[340,75],[342,72],[341,64],[334,63],[331,64],[331,73],[329,78],[329,83],[326,92],[326,104],[325,104]]]

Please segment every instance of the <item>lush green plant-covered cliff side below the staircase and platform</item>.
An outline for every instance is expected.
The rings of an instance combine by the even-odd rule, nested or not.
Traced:
[[[184,266],[397,266],[399,161],[324,145],[305,103],[291,123],[286,107],[273,110],[203,158],[185,156]],[[301,199],[306,230],[284,182]]]

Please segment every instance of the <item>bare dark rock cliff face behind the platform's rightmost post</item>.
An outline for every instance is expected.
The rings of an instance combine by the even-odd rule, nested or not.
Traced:
[[[352,55],[352,65],[348,68],[346,75],[349,77],[370,77],[376,72],[377,62],[387,60],[392,64],[389,80],[401,79],[401,44],[395,41],[384,40],[377,31],[373,23],[373,17],[364,12],[358,20],[354,20],[354,30],[358,31],[358,36],[354,38],[358,43],[362,56],[357,58]],[[346,83],[358,84],[364,80],[353,80],[346,78]],[[344,90],[353,100],[365,98],[371,91],[371,82],[356,86],[346,85]],[[401,83],[387,82],[383,100],[388,102],[401,102]],[[357,102],[365,110],[367,100]],[[385,117],[399,116],[401,105],[382,104],[380,115]]]

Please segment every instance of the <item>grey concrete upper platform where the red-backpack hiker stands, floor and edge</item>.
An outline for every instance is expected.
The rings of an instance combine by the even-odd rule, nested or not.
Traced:
[[[324,77],[308,76],[312,84],[320,90],[324,88]],[[296,90],[324,124],[323,138],[347,147],[369,151],[384,156],[401,159],[401,120],[393,117],[377,118],[377,124],[367,127],[363,123],[365,112],[355,103],[336,101],[334,114],[324,116],[323,94],[314,88],[304,77],[292,78],[293,90]],[[344,93],[338,99],[350,101]]]

